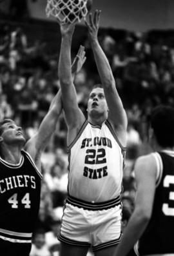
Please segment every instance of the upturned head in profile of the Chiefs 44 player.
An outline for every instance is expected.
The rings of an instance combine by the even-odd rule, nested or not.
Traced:
[[[21,127],[14,122],[3,124],[3,133],[1,133],[1,141],[6,144],[25,143],[24,132]]]

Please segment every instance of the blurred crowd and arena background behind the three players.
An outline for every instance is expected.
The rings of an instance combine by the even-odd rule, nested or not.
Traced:
[[[14,119],[28,139],[37,132],[59,90],[61,35],[55,20],[46,17],[45,7],[46,0],[0,1],[0,119]],[[128,115],[124,227],[134,207],[134,163],[139,155],[151,152],[147,144],[151,109],[161,103],[174,106],[174,2],[93,0],[92,10],[96,8],[102,10],[99,42]],[[84,23],[75,29],[72,59],[80,44],[86,48],[87,59],[75,86],[79,106],[86,115],[88,93],[100,79]],[[41,206],[31,256],[36,252],[59,255],[57,231],[67,194],[67,166],[62,115],[42,157]],[[90,251],[88,254],[92,255]]]

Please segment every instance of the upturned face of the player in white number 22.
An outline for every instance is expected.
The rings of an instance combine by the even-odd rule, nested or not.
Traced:
[[[104,90],[102,88],[95,88],[90,93],[88,99],[88,113],[90,112],[99,112],[105,113],[108,112],[108,105],[106,103],[106,98],[104,95]]]

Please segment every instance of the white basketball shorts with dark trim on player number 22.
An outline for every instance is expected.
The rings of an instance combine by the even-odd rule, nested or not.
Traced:
[[[102,207],[101,203],[98,203],[95,207],[96,204],[93,205],[87,202],[86,205],[90,205],[90,207],[92,205],[92,210],[87,210],[88,207],[84,204],[80,205],[81,202],[77,200],[75,200],[75,203],[71,200],[66,201],[61,230],[58,235],[59,241],[74,246],[92,246],[93,251],[117,245],[122,236],[122,206],[120,201],[111,208],[110,202],[113,201],[104,202]],[[99,208],[102,208],[102,210],[99,210]]]

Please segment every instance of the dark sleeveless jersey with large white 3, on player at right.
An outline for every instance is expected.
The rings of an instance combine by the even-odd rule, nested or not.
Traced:
[[[174,253],[174,152],[153,153],[157,188],[148,227],[139,240],[140,255]]]

